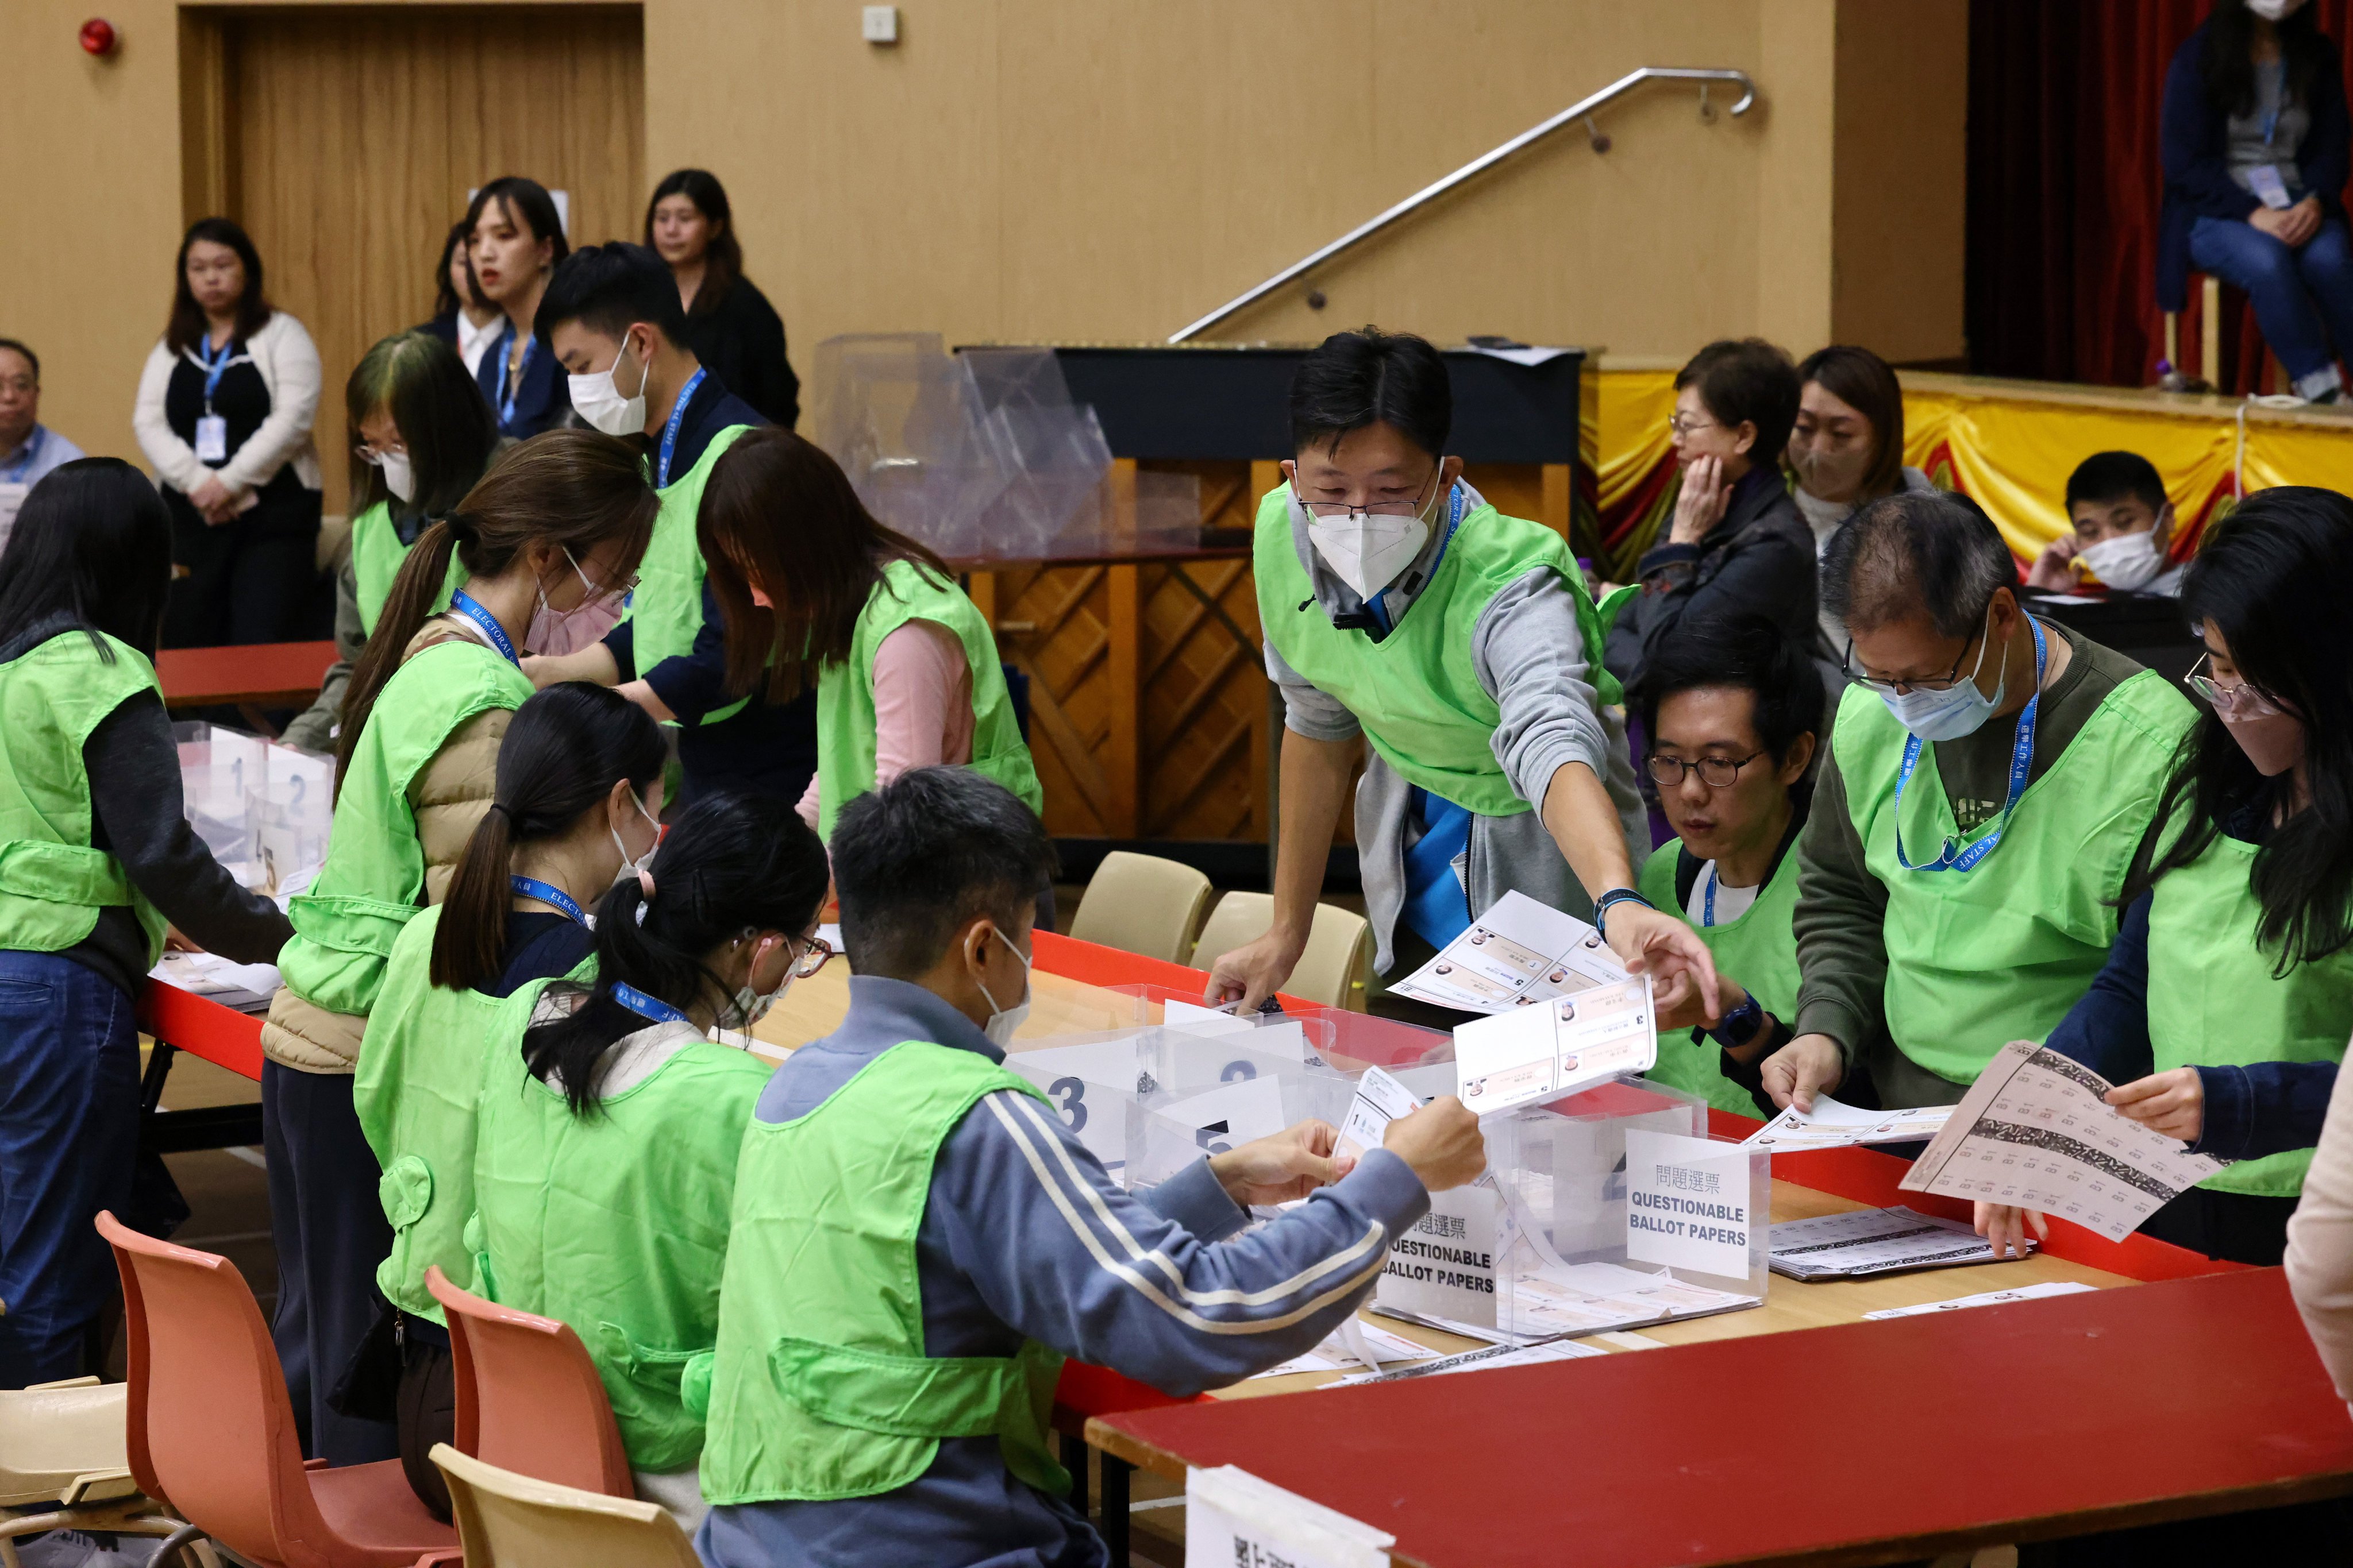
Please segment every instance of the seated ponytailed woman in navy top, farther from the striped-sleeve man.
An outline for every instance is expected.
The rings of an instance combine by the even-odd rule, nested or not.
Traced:
[[[384,1166],[376,1194],[393,1227],[376,1288],[398,1314],[400,1462],[440,1519],[449,1493],[428,1455],[454,1441],[456,1408],[426,1267],[471,1288],[464,1232],[487,1027],[529,980],[595,976],[586,907],[654,853],[666,762],[661,726],[619,691],[565,682],[527,701],[449,896],[407,924],[384,966],[353,1107]],[[391,1366],[376,1371],[391,1382]]]

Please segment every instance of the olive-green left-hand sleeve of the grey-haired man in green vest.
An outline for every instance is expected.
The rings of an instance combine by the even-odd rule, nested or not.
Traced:
[[[1828,1034],[1854,1065],[1887,1011],[1887,889],[1864,863],[1838,752],[1821,759],[1798,835],[1798,1032]]]

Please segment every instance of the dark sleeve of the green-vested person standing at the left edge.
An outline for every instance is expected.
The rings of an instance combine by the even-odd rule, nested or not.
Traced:
[[[278,959],[294,936],[287,917],[261,893],[238,886],[188,827],[179,750],[160,696],[141,691],[99,719],[82,743],[82,769],[106,851],[165,919],[224,959]]]

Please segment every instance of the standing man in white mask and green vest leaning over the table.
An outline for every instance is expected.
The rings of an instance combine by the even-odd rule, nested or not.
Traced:
[[[1275,922],[1217,961],[1207,997],[1257,1006],[1299,964],[1360,738],[1358,865],[1384,978],[1515,889],[1595,914],[1673,997],[1682,976],[1713,992],[1706,943],[1633,886],[1649,827],[1584,571],[1565,538],[1461,482],[1445,360],[1405,334],[1334,334],[1299,364],[1289,423],[1254,543],[1282,689]]]

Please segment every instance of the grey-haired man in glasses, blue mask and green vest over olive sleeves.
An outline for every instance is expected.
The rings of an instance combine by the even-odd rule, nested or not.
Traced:
[[[1953,1105],[2002,1044],[2049,1034],[2115,940],[2193,710],[2028,616],[2017,581],[1993,522],[1941,494],[1871,503],[1824,555],[1854,686],[1798,839],[1777,1105],[1812,1110],[1859,1065],[1882,1107]]]

